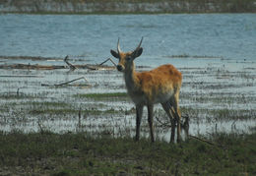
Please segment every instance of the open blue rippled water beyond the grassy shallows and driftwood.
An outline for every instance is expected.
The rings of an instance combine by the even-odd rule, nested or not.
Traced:
[[[0,15],[0,55],[82,56],[98,63],[142,36],[140,65],[175,55],[256,60],[256,14]],[[146,64],[146,65],[147,65]]]

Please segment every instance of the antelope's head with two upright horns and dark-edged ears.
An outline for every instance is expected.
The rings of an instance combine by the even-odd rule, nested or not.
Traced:
[[[120,72],[126,72],[126,71],[131,71],[134,69],[134,59],[139,57],[142,54],[143,48],[141,47],[142,44],[142,40],[143,37],[139,43],[139,45],[137,46],[137,48],[133,51],[129,51],[129,52],[123,52],[120,49],[120,45],[119,45],[119,38],[117,41],[117,52],[114,50],[110,50],[110,53],[112,54],[112,56],[114,56],[115,58],[119,59],[119,63],[116,66],[116,69]]]

